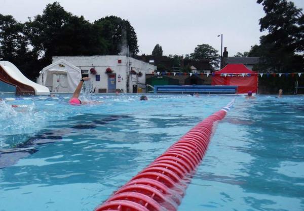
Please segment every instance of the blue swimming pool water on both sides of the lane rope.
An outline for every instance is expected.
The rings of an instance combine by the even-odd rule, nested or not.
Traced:
[[[0,148],[28,149],[1,154],[0,210],[91,211],[235,96],[139,97],[2,102]],[[238,96],[178,210],[303,210],[303,122],[303,96]]]

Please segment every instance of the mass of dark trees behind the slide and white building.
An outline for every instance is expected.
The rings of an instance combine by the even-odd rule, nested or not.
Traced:
[[[48,4],[42,15],[25,23],[0,14],[0,58],[14,63],[34,79],[52,63],[52,56],[92,56],[138,53],[137,36],[130,22],[107,16],[90,23],[59,3]]]

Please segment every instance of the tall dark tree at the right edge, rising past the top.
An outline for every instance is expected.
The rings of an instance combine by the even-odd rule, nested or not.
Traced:
[[[286,0],[258,0],[265,16],[259,20],[260,45],[254,46],[249,55],[260,57],[255,66],[260,72],[292,72],[304,68],[304,16],[292,2]]]

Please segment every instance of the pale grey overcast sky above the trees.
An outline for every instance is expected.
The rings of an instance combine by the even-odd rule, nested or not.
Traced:
[[[17,21],[42,14],[48,0],[0,0],[0,13]],[[130,21],[137,34],[139,54],[151,54],[156,44],[164,55],[193,53],[200,44],[208,44],[229,56],[249,51],[259,43],[259,18],[264,16],[256,0],[62,0],[57,1],[73,15],[93,22],[115,15]],[[304,8],[303,0],[293,1]]]

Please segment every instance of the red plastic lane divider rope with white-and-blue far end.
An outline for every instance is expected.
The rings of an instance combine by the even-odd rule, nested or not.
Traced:
[[[233,103],[198,123],[95,211],[176,211],[189,173],[207,151],[214,124],[225,117]]]

